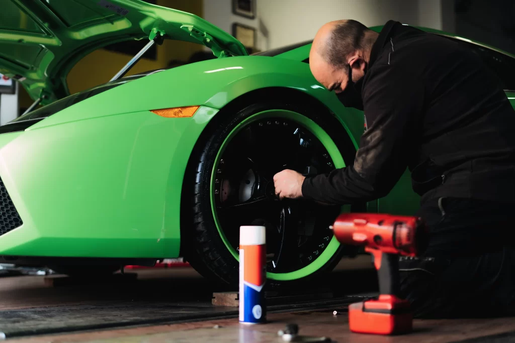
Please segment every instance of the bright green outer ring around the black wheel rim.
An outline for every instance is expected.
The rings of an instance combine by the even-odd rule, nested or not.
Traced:
[[[299,124],[304,125],[304,127],[307,130],[310,130],[311,133],[315,135],[315,137],[320,140],[322,145],[327,149],[329,155],[333,159],[333,163],[335,168],[343,168],[345,167],[345,161],[340,153],[338,147],[336,146],[335,142],[331,139],[329,134],[325,132],[316,122],[314,122],[312,119],[307,118],[303,116],[302,114],[299,114],[297,112],[293,111],[287,111],[287,110],[267,110],[255,113],[251,115],[250,117],[244,119],[242,122],[236,125],[236,127],[228,134],[228,136],[225,138],[224,142],[222,142],[222,145],[220,149],[218,150],[216,154],[216,160],[213,165],[213,170],[211,173],[211,194],[210,194],[210,200],[211,200],[211,209],[213,212],[213,218],[215,221],[216,228],[218,229],[218,233],[220,234],[221,240],[224,242],[227,249],[231,252],[231,255],[236,259],[236,261],[239,261],[238,252],[231,246],[228,239],[225,236],[224,231],[221,228],[221,225],[218,220],[218,215],[215,209],[215,199],[214,199],[214,187],[215,187],[215,171],[218,168],[218,163],[220,160],[220,156],[224,153],[225,148],[230,143],[231,139],[240,132],[243,128],[245,128],[248,124],[264,119],[264,118],[285,118],[289,120],[294,120],[298,122]],[[350,211],[350,206],[343,206],[342,212],[348,212]],[[329,243],[328,247],[325,248],[325,250],[320,254],[318,258],[316,258],[312,263],[304,266],[301,269],[295,270],[294,272],[289,273],[270,273],[267,272],[267,278],[271,280],[277,280],[277,281],[288,281],[288,280],[296,280],[300,279],[306,276],[309,276],[313,273],[315,273],[318,269],[320,269],[322,266],[324,266],[327,262],[330,261],[331,257],[336,254],[338,247],[340,246],[340,243],[336,240],[335,237],[332,238],[331,242]]]

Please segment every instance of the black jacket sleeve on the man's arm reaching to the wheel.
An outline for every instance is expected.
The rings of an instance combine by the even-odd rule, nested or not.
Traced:
[[[408,166],[419,137],[424,86],[419,76],[375,65],[364,82],[363,103],[368,128],[354,164],[329,174],[306,177],[302,195],[327,204],[352,204],[386,196]]]

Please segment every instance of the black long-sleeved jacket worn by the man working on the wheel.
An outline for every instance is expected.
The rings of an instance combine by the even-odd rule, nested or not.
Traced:
[[[367,130],[354,164],[306,177],[305,198],[375,200],[409,168],[423,201],[515,201],[515,111],[470,49],[389,21],[372,47],[361,91]]]

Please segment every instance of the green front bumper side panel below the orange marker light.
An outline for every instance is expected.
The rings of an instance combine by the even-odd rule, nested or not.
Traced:
[[[24,221],[0,238],[0,255],[177,257],[184,169],[216,112],[132,112],[0,135],[0,175]]]

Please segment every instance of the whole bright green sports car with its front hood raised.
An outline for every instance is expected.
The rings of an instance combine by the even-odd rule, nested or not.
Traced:
[[[355,250],[329,226],[342,211],[413,214],[408,171],[377,201],[279,201],[283,169],[353,163],[363,113],[313,78],[310,42],[248,55],[200,17],[140,0],[3,0],[0,73],[43,106],[0,127],[0,256],[58,272],[112,273],[183,256],[205,277],[238,280],[241,225],[266,225],[272,285],[331,270]],[[375,27],[381,30],[381,27]],[[470,46],[513,98],[515,60]],[[66,76],[92,51],[146,40],[112,80],[70,95]],[[126,76],[164,40],[215,59]],[[92,66],[91,73],[95,73]],[[513,100],[511,100],[513,101]]]

